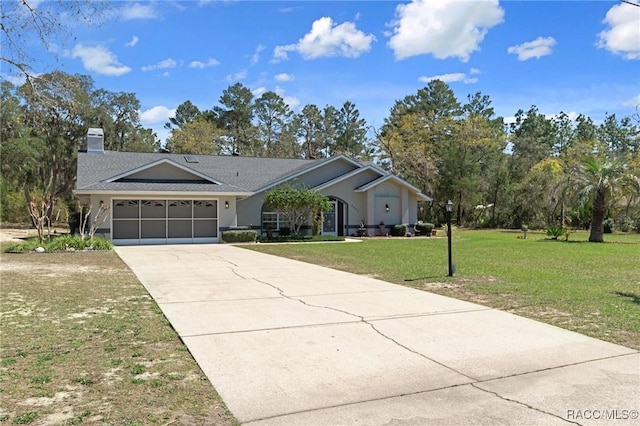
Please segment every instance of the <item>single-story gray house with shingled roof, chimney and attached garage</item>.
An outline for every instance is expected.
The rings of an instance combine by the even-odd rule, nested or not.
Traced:
[[[261,233],[287,226],[264,205],[266,192],[292,182],[327,196],[322,233],[350,235],[413,224],[419,189],[380,168],[345,156],[320,160],[105,151],[101,129],[89,129],[78,154],[75,194],[92,211],[108,207],[97,231],[117,245],[214,243],[221,232]],[[93,217],[91,218],[93,219]],[[311,219],[311,218],[310,218]]]

